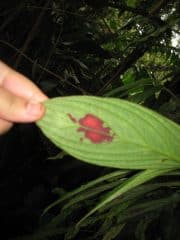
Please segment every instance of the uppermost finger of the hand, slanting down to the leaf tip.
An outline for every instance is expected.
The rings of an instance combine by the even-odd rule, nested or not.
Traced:
[[[0,61],[0,87],[28,100],[44,101],[47,99],[47,96],[33,82],[2,61]]]

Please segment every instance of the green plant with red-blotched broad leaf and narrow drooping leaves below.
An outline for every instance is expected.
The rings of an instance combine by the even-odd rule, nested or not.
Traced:
[[[82,200],[106,191],[99,203],[75,224],[74,234],[78,232],[79,227],[87,225],[87,218],[90,218],[96,211],[103,212],[104,208],[110,209],[111,206],[109,211],[116,216],[117,209],[114,207],[116,199],[118,199],[119,211],[126,216],[126,211],[131,211],[131,207],[133,208],[132,203],[136,201],[136,197],[139,198],[142,193],[151,190],[148,189],[148,185],[144,185],[141,192],[139,190],[141,184],[167,173],[173,175],[174,171],[180,167],[180,127],[151,110],[124,100],[88,96],[55,98],[47,100],[45,106],[46,114],[37,122],[37,125],[58,147],[89,163],[141,170],[125,179],[122,178],[122,174],[124,176],[129,172],[123,170],[104,176],[72,193],[65,194],[45,210],[44,214],[69,199],[69,203],[65,204],[62,209],[67,217],[66,209],[74,209],[74,205],[78,206]],[[112,183],[104,183],[97,190],[94,187],[114,177],[118,179]],[[176,184],[179,186],[178,182]],[[156,184],[153,186],[157,187]],[[165,186],[168,186],[168,183]],[[137,195],[129,199],[129,195],[131,196],[129,191],[133,189]],[[140,204],[140,208],[148,212],[149,209],[161,209],[161,206],[179,200],[179,194],[175,194],[165,199],[147,201],[142,206]],[[129,206],[131,206],[130,209]],[[50,225],[59,224],[60,219],[61,221],[63,219],[62,216],[63,213],[57,215]],[[89,221],[88,224],[92,224],[91,218]],[[98,222],[98,217],[95,218],[95,222]],[[119,227],[115,228],[117,234],[123,229],[124,224],[123,221],[120,225],[118,223]],[[70,236],[74,236],[72,232]],[[67,237],[67,239],[71,238]],[[104,236],[104,239],[111,238]]]

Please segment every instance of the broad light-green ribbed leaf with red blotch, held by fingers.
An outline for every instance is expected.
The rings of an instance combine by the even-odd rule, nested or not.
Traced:
[[[37,125],[78,159],[125,169],[180,167],[180,127],[151,110],[89,96],[54,98],[45,106]]]

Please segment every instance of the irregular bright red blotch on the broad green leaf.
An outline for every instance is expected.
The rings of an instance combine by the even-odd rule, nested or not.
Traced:
[[[78,123],[80,127],[78,132],[84,132],[85,138],[92,143],[112,142],[114,134],[111,134],[109,127],[104,127],[104,122],[93,114],[86,114],[83,118],[77,120],[70,113],[67,114],[72,122]],[[80,138],[83,141],[83,138]]]

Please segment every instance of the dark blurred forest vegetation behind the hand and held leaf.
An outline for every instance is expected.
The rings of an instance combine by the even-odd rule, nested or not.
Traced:
[[[0,20],[1,59],[49,97],[124,98],[180,122],[178,0],[6,0]],[[78,228],[102,193],[134,173],[72,194],[41,216],[58,196],[113,170],[59,154],[32,124],[2,136],[0,150],[3,239],[180,239],[179,172],[116,199]]]

